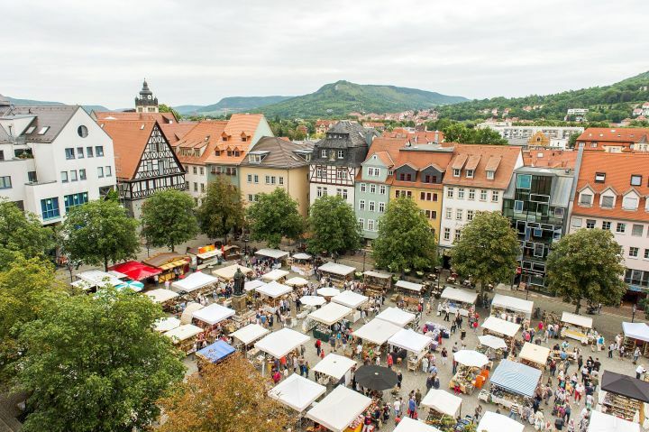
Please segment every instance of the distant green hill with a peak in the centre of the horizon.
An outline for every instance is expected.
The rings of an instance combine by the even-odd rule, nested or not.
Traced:
[[[393,113],[422,109],[467,100],[464,97],[441,95],[416,88],[371,86],[338,81],[321,87],[315,93],[293,97],[259,111],[268,117],[315,118],[343,117],[353,111]]]

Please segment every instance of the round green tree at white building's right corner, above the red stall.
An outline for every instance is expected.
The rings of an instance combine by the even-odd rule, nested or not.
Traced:
[[[74,262],[104,265],[134,258],[140,249],[137,221],[113,200],[72,207],[63,223],[63,252]]]

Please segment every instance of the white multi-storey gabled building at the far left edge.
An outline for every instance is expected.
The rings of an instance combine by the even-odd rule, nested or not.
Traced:
[[[43,141],[39,139],[42,128],[57,127],[46,124],[46,115],[39,118],[40,109],[57,108],[69,110],[69,119],[59,124],[51,142],[37,142]],[[114,188],[113,142],[81,107],[34,107],[32,111],[32,115],[0,117],[0,127],[12,131],[9,140],[0,141],[4,155],[0,177],[10,178],[10,183],[0,184],[0,197],[41,217],[43,224],[54,224],[62,221],[69,207]],[[37,129],[31,131],[32,124],[38,124]],[[16,157],[21,152],[31,156]]]

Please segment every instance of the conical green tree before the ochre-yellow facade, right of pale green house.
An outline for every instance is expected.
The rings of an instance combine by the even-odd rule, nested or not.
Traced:
[[[388,203],[379,219],[379,237],[372,243],[372,256],[379,268],[390,271],[434,267],[437,245],[428,219],[412,198]]]

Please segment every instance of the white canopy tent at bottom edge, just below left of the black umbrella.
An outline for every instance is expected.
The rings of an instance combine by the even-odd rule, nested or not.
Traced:
[[[306,412],[306,417],[334,432],[343,432],[370,406],[367,396],[339,385]]]

